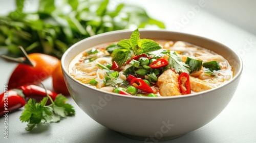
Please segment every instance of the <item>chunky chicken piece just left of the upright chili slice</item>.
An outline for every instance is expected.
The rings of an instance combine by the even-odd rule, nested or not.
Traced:
[[[178,74],[171,69],[167,69],[159,76],[156,85],[159,87],[159,93],[163,97],[181,95]]]

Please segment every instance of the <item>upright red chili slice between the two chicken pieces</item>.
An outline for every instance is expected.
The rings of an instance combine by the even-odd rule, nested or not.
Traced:
[[[187,73],[181,73],[178,77],[178,82],[181,94],[191,93],[189,75]]]

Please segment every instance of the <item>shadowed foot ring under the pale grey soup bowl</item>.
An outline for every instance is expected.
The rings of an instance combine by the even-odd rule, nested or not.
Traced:
[[[132,139],[136,139],[136,140],[142,140],[142,141],[148,141],[148,142],[157,142],[157,141],[164,141],[164,140],[171,140],[171,139],[175,139],[175,138],[178,138],[180,136],[182,136],[183,134],[181,135],[175,135],[175,136],[166,136],[166,137],[161,137],[161,138],[156,138],[156,137],[144,137],[144,136],[135,136],[135,135],[129,135],[129,134],[124,134],[124,133],[120,133],[118,132],[119,134],[125,136],[125,137],[128,137],[128,138],[132,138]]]

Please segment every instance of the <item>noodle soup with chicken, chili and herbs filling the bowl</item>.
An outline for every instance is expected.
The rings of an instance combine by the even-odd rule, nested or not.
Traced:
[[[101,90],[166,97],[215,88],[233,77],[221,55],[184,41],[130,39],[103,43],[77,55],[69,74]]]

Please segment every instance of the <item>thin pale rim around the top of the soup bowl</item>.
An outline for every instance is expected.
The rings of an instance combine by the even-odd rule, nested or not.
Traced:
[[[61,62],[61,69],[62,69],[62,72],[63,72],[62,74],[64,75],[64,73],[65,73],[70,79],[72,79],[76,83],[78,83],[78,84],[80,84],[80,85],[82,85],[82,86],[84,86],[86,88],[90,88],[90,89],[96,90],[98,92],[102,92],[104,94],[108,94],[108,95],[111,95],[111,96],[123,97],[123,98],[136,98],[136,99],[144,99],[144,100],[166,100],[166,99],[180,99],[180,98],[191,98],[191,97],[202,96],[202,94],[205,94],[206,92],[213,92],[213,91],[218,90],[220,88],[224,88],[225,86],[231,84],[232,82],[234,82],[238,78],[240,78],[240,76],[242,74],[242,71],[243,71],[243,61],[242,61],[242,58],[233,49],[231,49],[229,46],[226,46],[225,44],[223,44],[221,42],[218,42],[216,40],[212,40],[212,39],[209,39],[209,38],[206,38],[206,37],[198,36],[198,35],[195,35],[195,34],[189,34],[189,33],[185,33],[185,32],[170,31],[170,30],[167,30],[167,29],[157,29],[157,30],[139,29],[139,31],[140,32],[153,32],[153,33],[154,32],[166,32],[166,33],[182,34],[182,35],[186,35],[186,36],[193,36],[193,37],[200,38],[200,39],[203,39],[203,40],[208,40],[208,41],[211,41],[211,42],[216,42],[216,43],[221,44],[222,46],[226,47],[228,50],[232,51],[234,53],[234,55],[236,55],[238,57],[240,68],[237,71],[237,74],[232,79],[230,79],[226,83],[221,84],[218,87],[215,87],[215,88],[212,88],[212,89],[208,89],[208,90],[205,90],[205,91],[201,91],[201,92],[185,94],[185,95],[168,96],[168,97],[157,97],[157,98],[127,96],[127,95],[123,95],[123,94],[118,94],[118,93],[114,93],[114,92],[108,92],[108,91],[100,90],[100,89],[97,89],[97,88],[92,88],[89,85],[86,85],[86,84],[83,84],[83,83],[79,82],[78,80],[76,80],[75,78],[73,78],[69,74],[68,69],[66,69],[64,67],[64,63],[65,63],[64,59],[65,59],[65,57],[68,55],[68,53],[72,49],[74,49],[77,45],[79,45],[80,43],[83,43],[84,41],[91,40],[91,39],[94,39],[94,38],[97,38],[97,37],[103,37],[103,36],[106,36],[106,35],[121,34],[121,33],[131,33],[131,32],[133,32],[133,30],[131,30],[131,29],[124,29],[124,30],[116,30],[116,31],[105,32],[105,33],[93,35],[93,36],[90,36],[88,38],[84,38],[84,39],[74,43],[73,45],[71,45],[68,48],[68,50],[66,50],[65,53],[63,53],[63,55],[61,57],[61,60],[60,60],[60,62]],[[82,51],[80,51],[80,52],[82,52]]]

